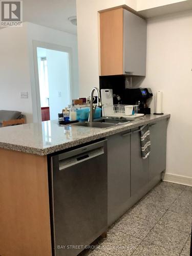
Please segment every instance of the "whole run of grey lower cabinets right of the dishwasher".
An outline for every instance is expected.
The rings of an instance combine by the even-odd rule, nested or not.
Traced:
[[[141,157],[139,127],[108,138],[108,226],[160,180],[166,167],[167,119],[149,124],[151,153]]]

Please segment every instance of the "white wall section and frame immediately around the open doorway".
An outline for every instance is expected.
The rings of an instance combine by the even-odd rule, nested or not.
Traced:
[[[50,29],[47,27],[35,25],[32,23],[27,24],[28,32],[28,45],[29,45],[29,58],[30,58],[30,74],[31,74],[31,87],[32,87],[32,104],[33,104],[33,117],[37,121],[37,102],[35,91],[35,73],[34,73],[34,56],[33,56],[33,40],[40,42],[47,42],[48,44],[55,44],[62,47],[72,48],[72,97],[79,97],[79,80],[78,80],[78,49],[77,49],[77,36],[66,32]]]

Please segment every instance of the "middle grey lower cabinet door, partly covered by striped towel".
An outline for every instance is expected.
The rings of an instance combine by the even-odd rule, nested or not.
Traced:
[[[148,182],[148,157],[141,157],[139,127],[131,134],[131,196],[135,196]]]

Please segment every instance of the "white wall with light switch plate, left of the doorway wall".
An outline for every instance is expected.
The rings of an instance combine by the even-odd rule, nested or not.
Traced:
[[[33,121],[26,26],[0,30],[0,110],[21,111]],[[27,91],[28,99],[20,92]]]

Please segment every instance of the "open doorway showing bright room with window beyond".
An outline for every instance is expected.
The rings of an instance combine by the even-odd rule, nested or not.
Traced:
[[[70,52],[37,46],[36,58],[39,119],[56,120],[58,113],[71,103]]]

